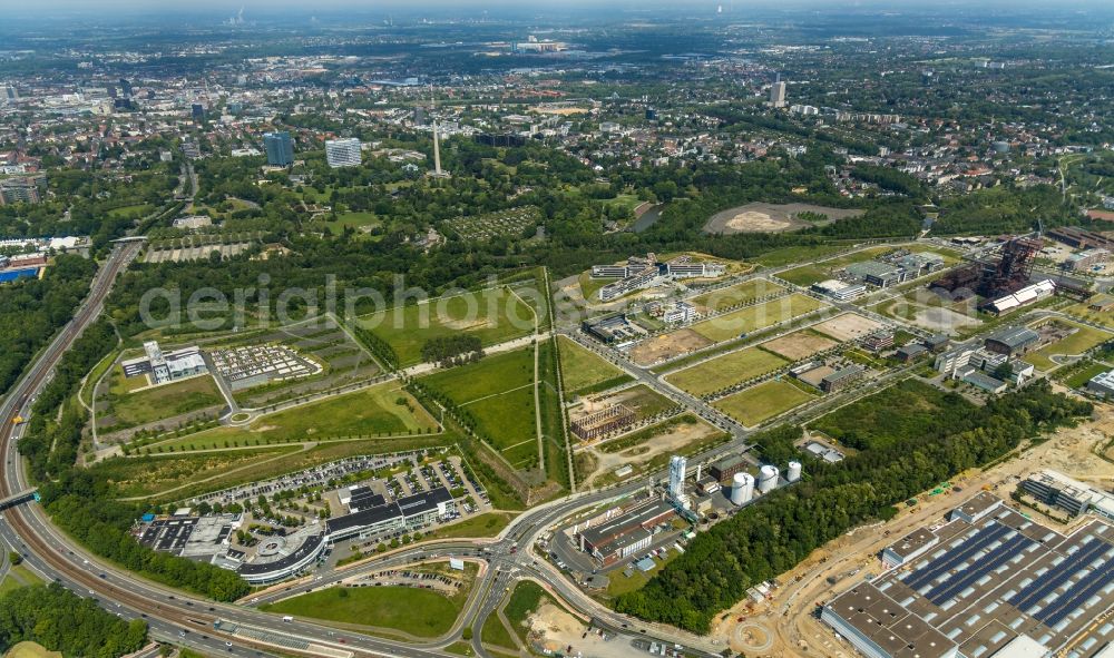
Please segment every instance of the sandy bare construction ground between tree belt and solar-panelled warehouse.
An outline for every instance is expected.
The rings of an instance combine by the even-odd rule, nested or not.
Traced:
[[[713,623],[712,636],[751,657],[853,658],[858,656],[854,649],[836,638],[812,612],[856,582],[879,574],[883,569],[878,558],[882,548],[916,528],[942,520],[948,511],[983,489],[1014,504],[1009,502],[1010,492],[1020,479],[1039,469],[1059,470],[1078,480],[1104,481],[1108,485],[1114,479],[1114,463],[1095,451],[1111,438],[1114,438],[1114,405],[1098,405],[1095,419],[1059,430],[1044,443],[1027,448],[988,471],[973,470],[954,478],[952,484],[960,487],[961,492],[922,495],[919,504],[902,510],[891,521],[858,528],[817,549],[779,578],[781,587],[766,601],[756,607],[744,601],[722,613]],[[1069,531],[1085,520],[1077,519],[1065,527],[1032,509],[1025,512],[1061,531]],[[763,632],[772,641],[760,648]]]

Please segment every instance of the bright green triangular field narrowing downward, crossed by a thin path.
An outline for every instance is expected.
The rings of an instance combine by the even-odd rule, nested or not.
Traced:
[[[512,465],[537,460],[532,348],[485,356],[422,381],[470,415]]]

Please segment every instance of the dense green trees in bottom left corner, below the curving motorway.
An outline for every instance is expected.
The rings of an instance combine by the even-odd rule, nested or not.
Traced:
[[[23,641],[67,658],[116,658],[147,644],[147,623],[119,619],[58,583],[21,587],[0,595],[0,654]]]

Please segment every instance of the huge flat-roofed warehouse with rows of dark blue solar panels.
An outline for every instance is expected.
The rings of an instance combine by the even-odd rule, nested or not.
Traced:
[[[870,658],[1108,658],[1114,526],[1094,518],[1062,534],[1004,504],[978,507],[883,551],[901,564],[832,599],[821,619]]]

